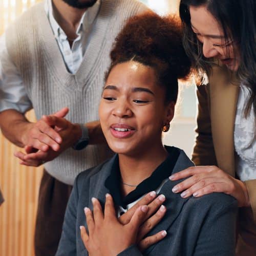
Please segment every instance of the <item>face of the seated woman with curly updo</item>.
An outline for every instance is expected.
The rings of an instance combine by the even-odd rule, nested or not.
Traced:
[[[135,61],[116,65],[99,105],[102,131],[111,149],[136,156],[162,145],[162,127],[174,115],[174,103],[164,102],[165,89],[156,83],[152,68]]]

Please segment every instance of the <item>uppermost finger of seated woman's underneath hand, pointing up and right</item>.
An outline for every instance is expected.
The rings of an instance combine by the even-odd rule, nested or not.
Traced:
[[[129,223],[134,215],[134,212],[139,206],[148,205],[156,198],[156,192],[151,191],[146,196],[144,196],[139,202],[137,202],[131,209],[129,209],[125,214],[119,217],[119,222],[123,225]]]

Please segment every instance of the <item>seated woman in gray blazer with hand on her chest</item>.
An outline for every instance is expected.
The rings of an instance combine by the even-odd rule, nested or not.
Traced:
[[[161,140],[174,116],[177,79],[190,72],[179,21],[153,13],[133,17],[111,59],[99,119],[116,155],[77,176],[57,255],[234,255],[237,201],[225,194],[183,199],[172,193],[178,182],[168,179],[194,165]],[[140,252],[138,228],[148,207],[125,225],[117,217],[147,193],[165,196],[166,214],[149,233],[164,238]]]

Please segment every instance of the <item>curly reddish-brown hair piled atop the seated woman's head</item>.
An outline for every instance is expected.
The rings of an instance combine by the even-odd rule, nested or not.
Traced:
[[[136,61],[154,69],[157,82],[166,88],[166,102],[177,101],[178,79],[186,79],[191,62],[182,46],[181,22],[177,16],[153,12],[129,20],[117,35],[110,53],[111,66]]]

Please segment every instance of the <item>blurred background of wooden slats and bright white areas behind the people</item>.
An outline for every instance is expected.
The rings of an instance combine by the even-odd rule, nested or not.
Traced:
[[[127,0],[129,1],[129,0]],[[37,0],[0,0],[0,35],[18,15]],[[141,0],[155,12],[178,13],[179,0]],[[191,156],[195,141],[196,95],[193,84],[180,84],[179,101],[164,144],[183,148]],[[34,119],[33,111],[27,114]],[[0,255],[33,256],[34,223],[42,168],[19,165],[19,150],[0,134],[0,187],[5,202],[0,207]],[[46,255],[47,256],[47,255]]]

